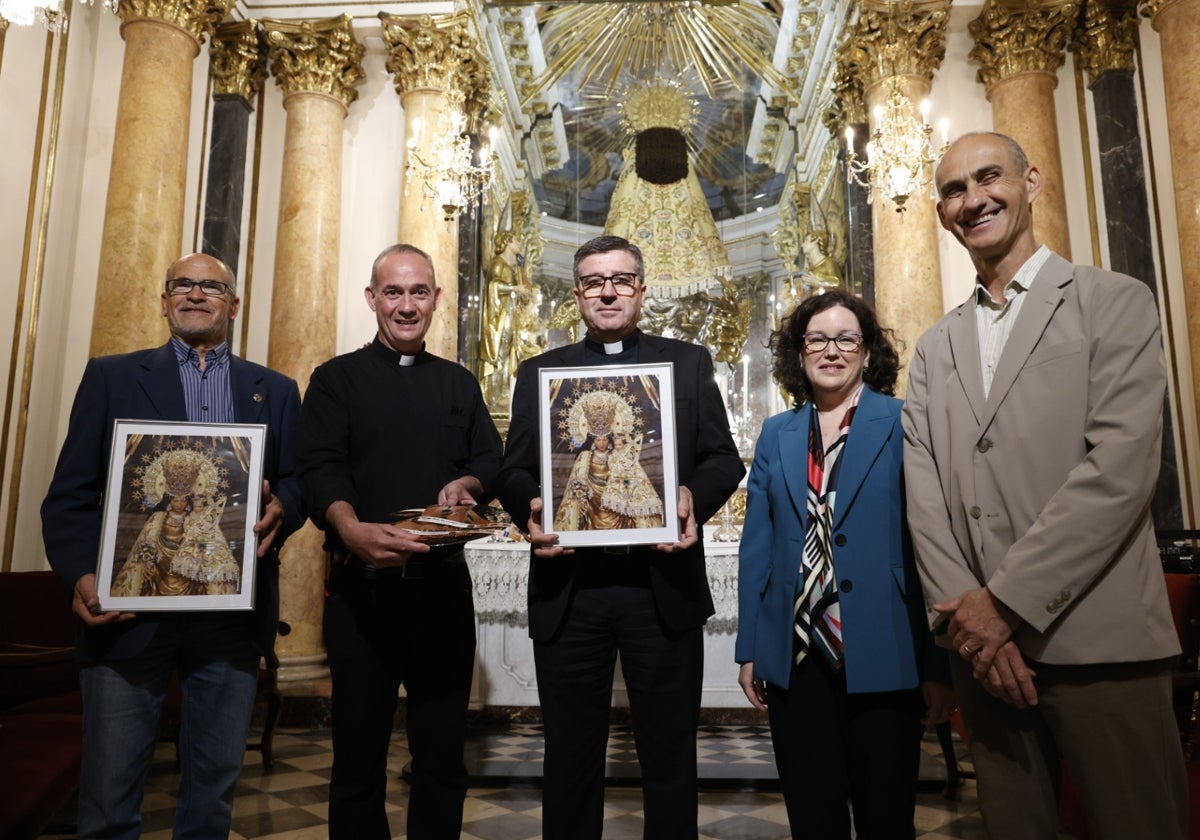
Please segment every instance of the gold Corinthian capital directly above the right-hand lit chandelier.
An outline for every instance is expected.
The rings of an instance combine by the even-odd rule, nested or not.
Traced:
[[[839,74],[857,77],[863,90],[893,76],[932,80],[946,58],[949,0],[904,4],[864,2],[838,50]]]

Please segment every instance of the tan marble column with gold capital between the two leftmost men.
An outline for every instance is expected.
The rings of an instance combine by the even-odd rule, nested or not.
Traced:
[[[263,20],[271,74],[283,91],[287,124],[271,293],[268,366],[300,383],[337,352],[337,263],[342,224],[342,132],[362,44],[348,14],[323,20]],[[326,556],[312,523],[283,547],[280,679],[324,676],[322,617]]]

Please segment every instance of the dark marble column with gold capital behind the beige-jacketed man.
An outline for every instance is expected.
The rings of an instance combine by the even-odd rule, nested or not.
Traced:
[[[1154,234],[1134,83],[1136,10],[1087,4],[1085,12],[1085,25],[1078,32],[1075,49],[1088,78],[1096,112],[1096,145],[1100,161],[1109,266],[1141,280],[1158,298]],[[1183,528],[1170,394],[1166,395],[1163,408],[1163,452],[1152,512],[1159,529]]]

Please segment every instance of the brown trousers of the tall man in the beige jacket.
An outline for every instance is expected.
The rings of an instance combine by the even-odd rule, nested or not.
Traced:
[[[1028,665],[1037,672],[1038,704],[1018,709],[989,695],[971,666],[950,656],[989,836],[1057,836],[1062,762],[1097,840],[1187,836],[1171,660]]]

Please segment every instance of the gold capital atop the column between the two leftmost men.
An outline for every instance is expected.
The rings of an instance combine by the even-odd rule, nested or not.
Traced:
[[[271,74],[292,94],[325,94],[347,108],[359,97],[354,85],[361,82],[362,54],[354,40],[350,16],[322,20],[263,20],[270,47]]]

